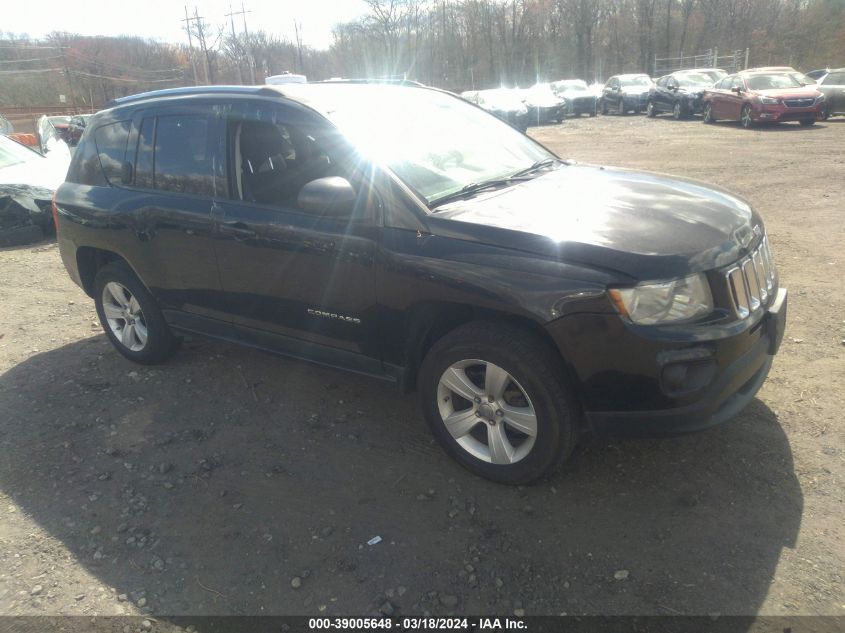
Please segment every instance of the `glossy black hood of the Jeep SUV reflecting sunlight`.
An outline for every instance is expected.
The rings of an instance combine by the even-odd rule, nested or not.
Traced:
[[[763,228],[746,202],[725,191],[592,165],[562,166],[445,205],[430,218],[433,229],[461,239],[612,269],[637,280],[726,266]]]

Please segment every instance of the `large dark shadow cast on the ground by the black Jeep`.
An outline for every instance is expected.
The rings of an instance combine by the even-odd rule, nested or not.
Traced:
[[[21,362],[0,454],[41,547],[115,588],[114,613],[756,614],[803,508],[759,400],[695,435],[588,438],[505,487],[445,457],[413,395],[204,340],[159,367],[102,335]],[[15,612],[67,608],[25,593]]]

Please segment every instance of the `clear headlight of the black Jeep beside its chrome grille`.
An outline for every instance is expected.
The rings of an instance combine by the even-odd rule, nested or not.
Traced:
[[[611,288],[610,297],[623,316],[639,325],[689,321],[713,311],[710,285],[701,273],[633,288]]]

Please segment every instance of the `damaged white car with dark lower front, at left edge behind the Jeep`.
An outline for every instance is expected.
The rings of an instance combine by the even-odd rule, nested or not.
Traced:
[[[70,152],[45,157],[0,136],[0,246],[37,242],[53,232],[50,204]]]

